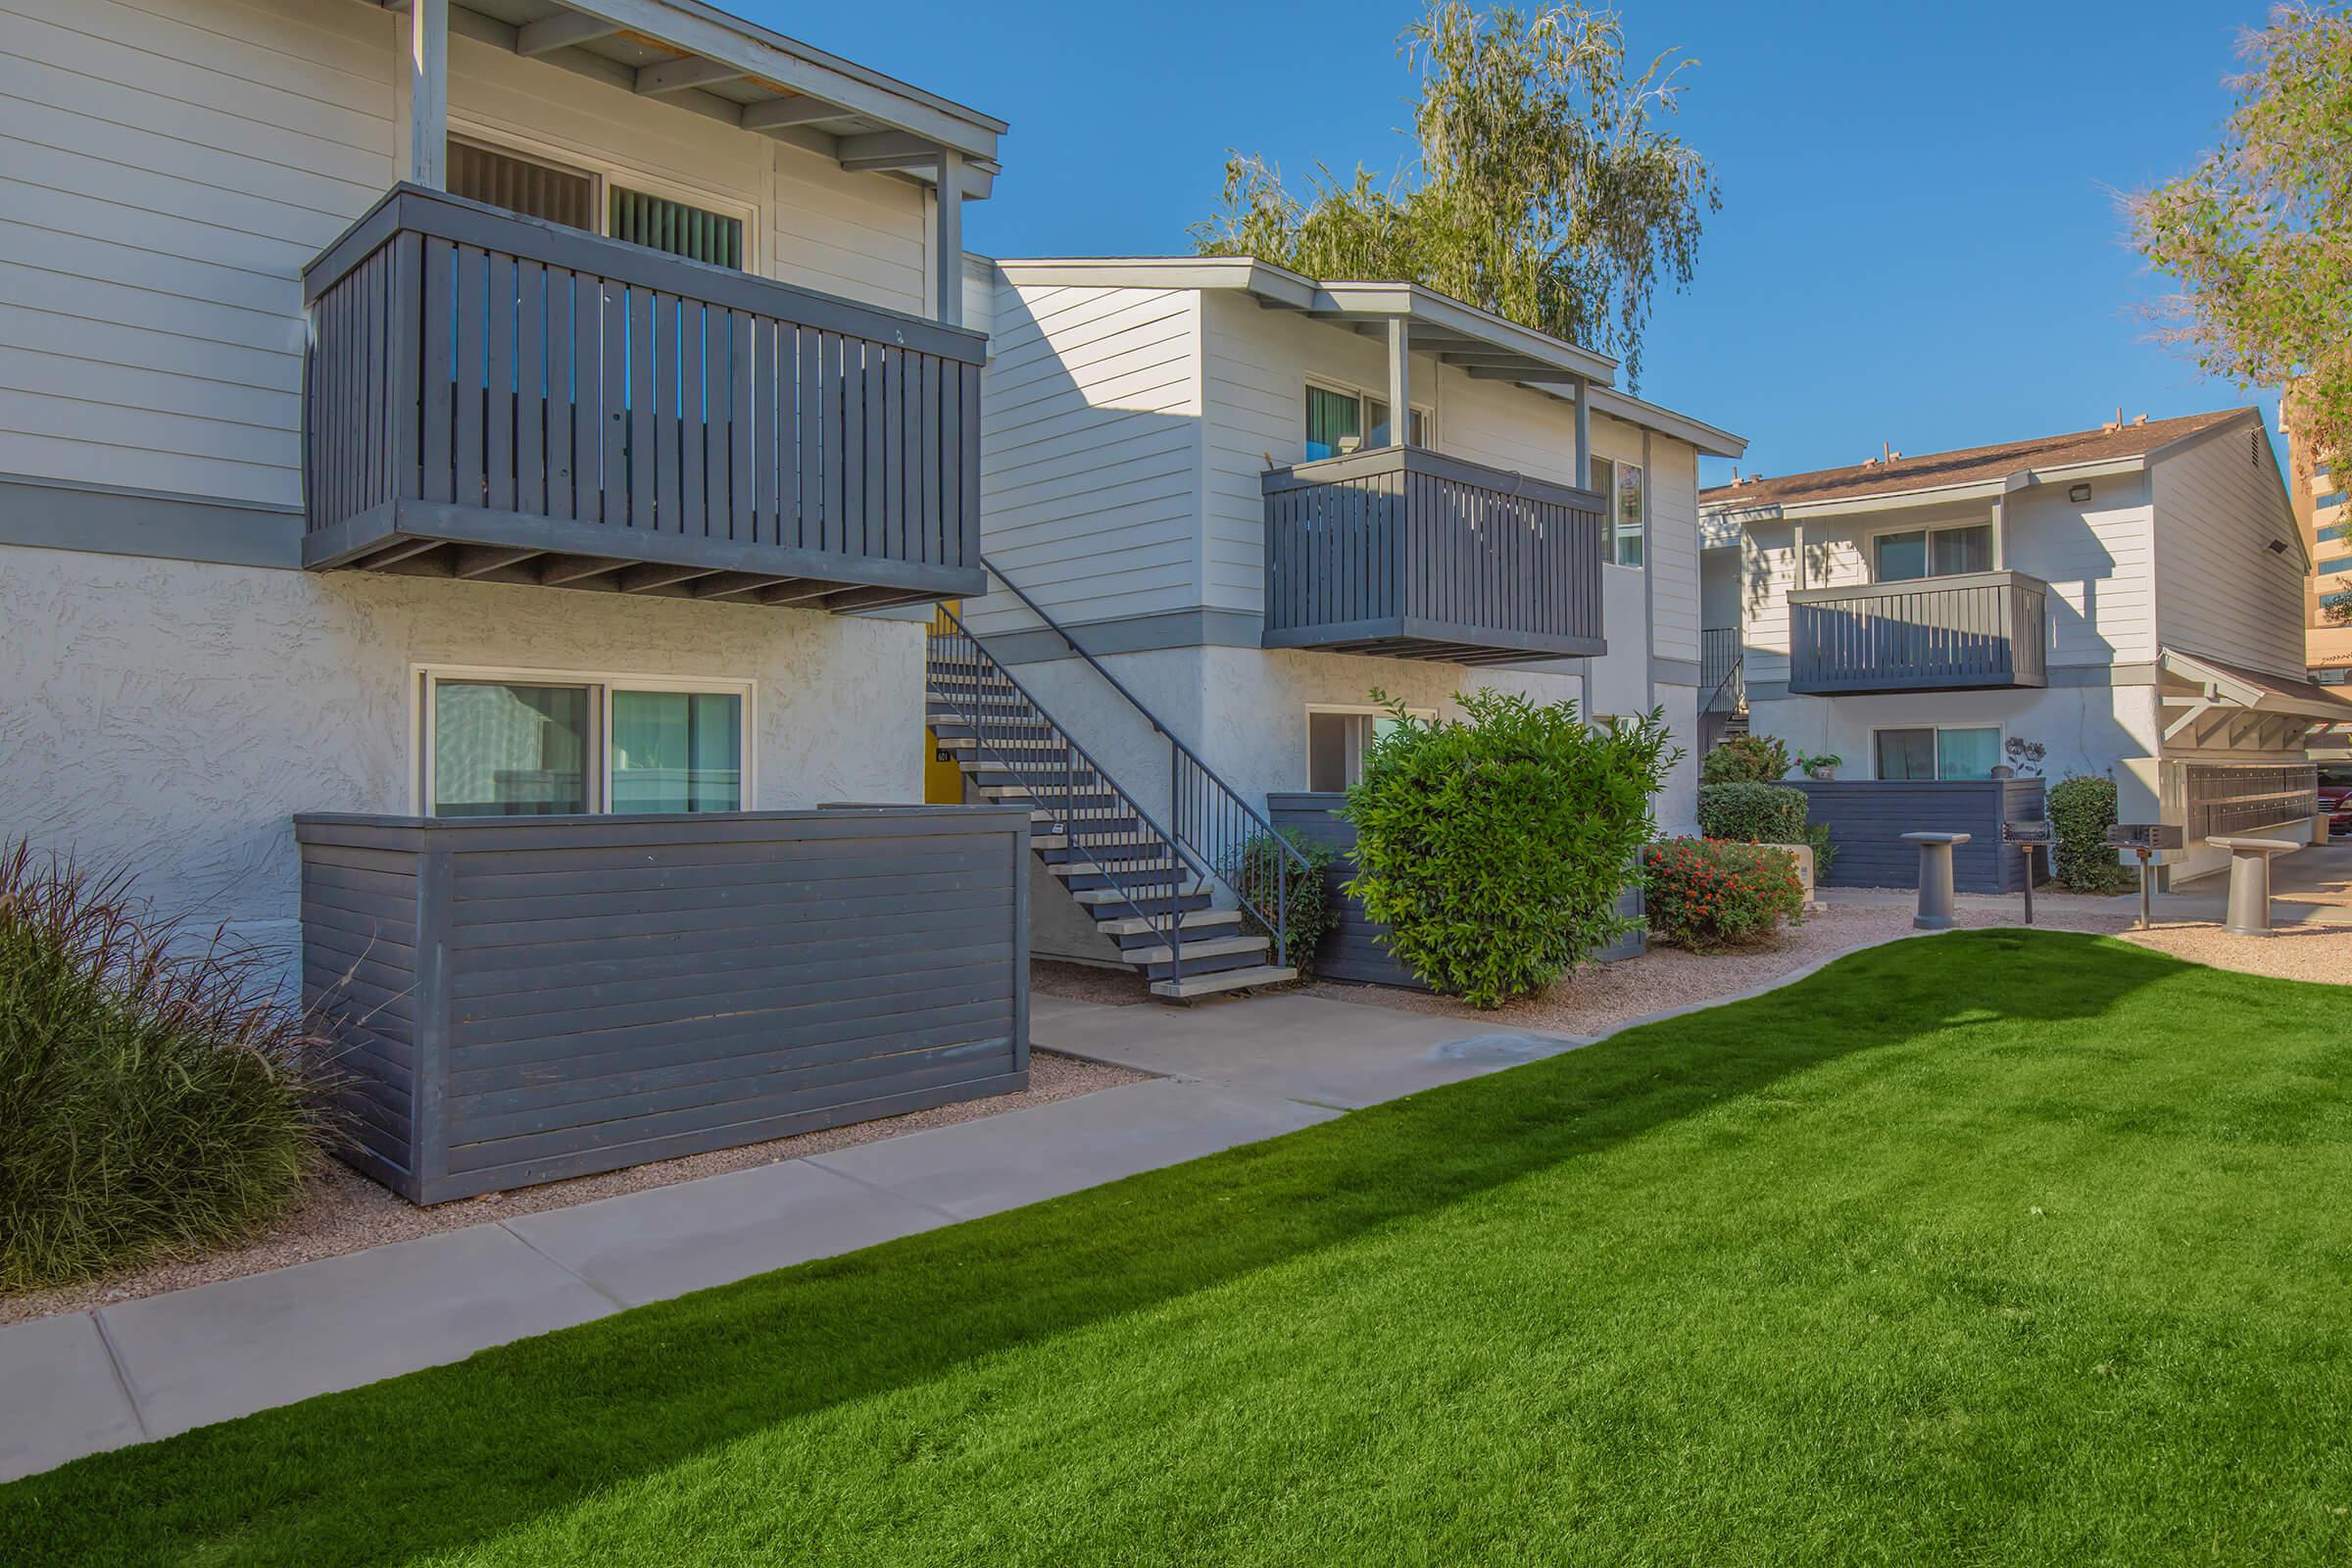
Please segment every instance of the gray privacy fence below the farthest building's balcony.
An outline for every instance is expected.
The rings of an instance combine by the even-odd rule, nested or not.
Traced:
[[[1804,790],[1811,820],[1830,825],[1837,860],[1820,886],[1919,886],[1919,846],[1905,832],[1966,832],[1952,849],[1952,882],[1962,893],[2018,893],[2025,856],[2002,844],[2002,823],[2044,818],[2039,778],[1790,780]],[[2049,851],[2034,872],[2049,877]]]

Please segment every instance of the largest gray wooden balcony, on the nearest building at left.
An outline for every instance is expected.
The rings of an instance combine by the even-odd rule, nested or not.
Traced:
[[[802,604],[985,592],[985,339],[395,186],[303,270],[303,564]]]

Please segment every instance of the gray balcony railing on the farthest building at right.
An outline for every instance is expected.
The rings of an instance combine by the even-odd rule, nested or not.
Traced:
[[[1788,689],[2049,686],[2049,585],[2023,571],[1809,588],[1788,597]]]

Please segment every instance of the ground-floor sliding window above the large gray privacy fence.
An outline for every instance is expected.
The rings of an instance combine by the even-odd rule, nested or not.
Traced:
[[[750,682],[419,672],[426,816],[741,811]]]

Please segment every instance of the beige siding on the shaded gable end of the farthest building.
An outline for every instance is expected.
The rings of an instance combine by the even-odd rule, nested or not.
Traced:
[[[2157,632],[2164,646],[2303,677],[2303,562],[2270,442],[2232,425],[2157,458]]]

